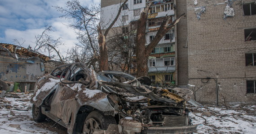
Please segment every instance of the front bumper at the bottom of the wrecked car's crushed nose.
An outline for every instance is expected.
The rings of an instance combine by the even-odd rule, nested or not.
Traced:
[[[190,134],[196,132],[196,125],[173,127],[148,127],[142,130],[142,134]]]

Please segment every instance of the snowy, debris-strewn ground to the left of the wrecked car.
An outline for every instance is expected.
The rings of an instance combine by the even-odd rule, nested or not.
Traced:
[[[51,127],[53,121],[33,121],[31,95],[20,93],[18,96],[21,98],[0,98],[0,134],[63,134],[62,126]],[[57,127],[62,127],[62,130]]]

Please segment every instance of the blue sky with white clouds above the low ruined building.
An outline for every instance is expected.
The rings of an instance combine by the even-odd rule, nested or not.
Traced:
[[[100,0],[79,0],[83,5],[99,4]],[[75,31],[65,24],[71,22],[59,18],[62,13],[52,6],[66,7],[67,0],[0,0],[0,43],[14,44],[13,39],[22,42],[23,47],[33,46],[35,35],[44,31],[45,25],[53,26],[54,38],[61,37],[65,47],[74,46]]]

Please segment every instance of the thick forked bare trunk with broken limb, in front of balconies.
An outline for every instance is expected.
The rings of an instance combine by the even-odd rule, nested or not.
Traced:
[[[147,59],[154,49],[154,47],[158,44],[158,42],[163,38],[164,34],[166,34],[170,29],[176,25],[182,16],[184,16],[185,13],[183,13],[180,17],[177,17],[176,20],[172,22],[171,16],[166,16],[165,19],[162,21],[161,26],[159,27],[159,30],[154,37],[154,39],[150,42],[148,46],[145,46],[145,34],[146,34],[146,21],[147,21],[147,15],[149,8],[151,6],[152,2],[147,5],[147,8],[144,10],[144,12],[141,13],[141,17],[138,20],[138,27],[137,29],[137,40],[136,40],[136,58],[137,58],[137,77],[146,76],[148,72],[147,67]],[[172,23],[171,23],[172,22]]]

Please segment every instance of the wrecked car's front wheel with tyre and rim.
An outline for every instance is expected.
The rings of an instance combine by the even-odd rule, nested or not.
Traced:
[[[93,111],[88,114],[84,121],[83,134],[93,134],[96,129],[106,130],[110,124],[116,124],[113,116],[104,116],[100,111]]]

